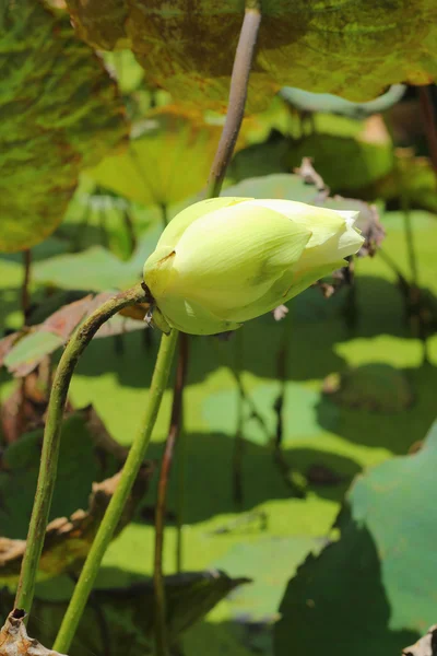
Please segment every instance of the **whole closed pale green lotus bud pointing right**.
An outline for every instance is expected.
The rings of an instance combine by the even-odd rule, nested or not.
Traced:
[[[194,203],[144,265],[152,323],[191,335],[239,328],[344,266],[363,244],[356,216],[291,200]]]

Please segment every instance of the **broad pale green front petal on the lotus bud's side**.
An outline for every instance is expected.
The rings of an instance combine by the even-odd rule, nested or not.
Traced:
[[[185,231],[166,293],[234,320],[235,308],[263,296],[297,262],[310,236],[306,226],[250,202],[217,210]]]

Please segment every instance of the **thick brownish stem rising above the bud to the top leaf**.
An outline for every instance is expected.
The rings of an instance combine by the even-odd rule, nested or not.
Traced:
[[[220,195],[226,168],[231,162],[245,114],[250,69],[253,61],[260,23],[261,11],[259,2],[255,2],[253,0],[247,2],[245,19],[235,52],[226,121],[211,167],[206,198],[214,198]]]

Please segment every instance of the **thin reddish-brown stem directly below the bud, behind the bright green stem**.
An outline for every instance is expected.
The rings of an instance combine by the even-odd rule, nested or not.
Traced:
[[[173,393],[173,407],[170,427],[165,443],[164,456],[161,464],[160,481],[157,485],[156,513],[155,513],[155,558],[153,581],[155,589],[155,635],[157,654],[166,654],[168,644],[166,640],[166,604],[163,573],[163,550],[165,512],[167,501],[167,489],[175,445],[178,442],[182,424],[182,390],[187,376],[188,364],[188,335],[181,335],[179,340],[179,358],[176,371],[176,380]]]

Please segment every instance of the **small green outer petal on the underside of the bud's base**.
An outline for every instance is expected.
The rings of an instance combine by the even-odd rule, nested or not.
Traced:
[[[215,317],[204,306],[181,296],[167,295],[158,306],[170,326],[189,335],[216,335],[241,327],[241,324]]]

